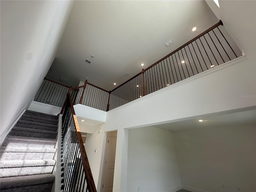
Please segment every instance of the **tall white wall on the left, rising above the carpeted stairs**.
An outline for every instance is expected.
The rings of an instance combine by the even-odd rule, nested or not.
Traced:
[[[1,138],[54,60],[71,1],[1,1]]]

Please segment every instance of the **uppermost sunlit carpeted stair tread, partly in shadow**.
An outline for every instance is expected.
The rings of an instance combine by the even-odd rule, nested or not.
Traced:
[[[21,136],[6,136],[2,146],[8,147],[36,147],[36,148],[54,148],[56,139],[33,138]]]

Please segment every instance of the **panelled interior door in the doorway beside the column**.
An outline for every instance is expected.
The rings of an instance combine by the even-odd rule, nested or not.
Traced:
[[[112,192],[116,157],[116,137],[108,136],[102,192]]]

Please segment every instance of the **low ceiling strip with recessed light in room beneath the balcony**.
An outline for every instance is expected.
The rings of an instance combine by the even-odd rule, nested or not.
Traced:
[[[198,120],[203,121],[199,122]],[[242,125],[252,125],[256,128],[256,110],[220,115],[204,115],[191,120],[161,124],[154,127],[169,131],[184,131],[199,128],[233,127]]]

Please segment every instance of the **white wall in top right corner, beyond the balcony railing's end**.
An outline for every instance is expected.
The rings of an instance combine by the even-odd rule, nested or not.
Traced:
[[[256,1],[222,1],[220,8],[213,0],[206,0],[212,12],[221,19],[238,47],[256,64]]]

